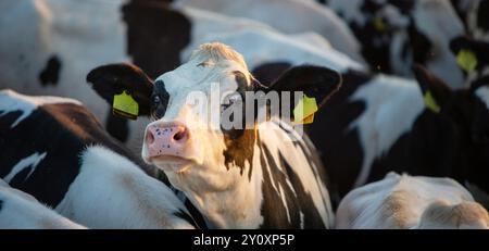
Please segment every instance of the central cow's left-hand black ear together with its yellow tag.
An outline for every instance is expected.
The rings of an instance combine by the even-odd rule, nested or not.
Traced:
[[[102,65],[88,73],[87,83],[112,105],[115,115],[135,120],[150,114],[153,80],[139,67],[128,63]]]

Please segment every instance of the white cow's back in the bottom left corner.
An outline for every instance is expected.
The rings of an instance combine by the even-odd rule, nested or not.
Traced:
[[[84,229],[0,179],[0,229]]]

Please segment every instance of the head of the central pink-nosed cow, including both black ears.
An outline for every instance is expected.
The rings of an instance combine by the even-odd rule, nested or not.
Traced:
[[[189,62],[154,81],[127,64],[96,68],[87,80],[111,104],[114,96],[130,93],[139,114],[151,116],[141,151],[146,162],[165,171],[183,190],[215,191],[251,178],[256,128],[265,124],[256,114],[271,108],[267,97],[276,93],[281,104],[276,115],[286,118],[298,103],[285,102],[293,93],[302,91],[321,105],[339,88],[341,77],[328,68],[299,66],[267,88],[251,76],[239,53],[222,43],[205,43]],[[287,91],[293,93],[283,95]],[[255,96],[253,102],[250,95]],[[256,112],[251,120],[249,110]]]

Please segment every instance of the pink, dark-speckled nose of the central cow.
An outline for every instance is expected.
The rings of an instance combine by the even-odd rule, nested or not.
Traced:
[[[183,125],[153,125],[146,131],[150,156],[181,156],[188,138],[188,128]]]

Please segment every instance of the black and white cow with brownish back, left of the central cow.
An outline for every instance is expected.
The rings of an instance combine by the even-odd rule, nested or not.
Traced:
[[[0,178],[83,226],[197,227],[77,100],[0,91]]]

